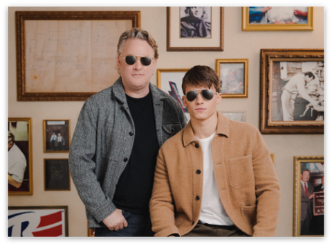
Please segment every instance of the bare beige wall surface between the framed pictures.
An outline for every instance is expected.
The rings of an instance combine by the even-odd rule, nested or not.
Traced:
[[[68,158],[68,153],[43,151],[43,121],[70,120],[71,137],[83,101],[17,101],[15,11],[114,11],[141,13],[141,28],[158,44],[156,69],[190,69],[195,65],[215,68],[216,59],[248,59],[248,98],[223,98],[219,111],[245,111],[246,122],[259,128],[261,49],[324,49],[324,7],[313,7],[311,31],[242,31],[240,6],[224,9],[223,51],[167,52],[167,8],[160,7],[8,7],[8,117],[32,118],[33,195],[10,195],[8,206],[68,206],[68,236],[87,236],[84,205],[71,180],[70,191],[44,191],[44,159]],[[110,78],[113,83],[117,78]],[[156,72],[151,83],[156,85]],[[293,235],[293,179],[295,156],[323,156],[324,134],[264,134],[281,186],[277,236]]]

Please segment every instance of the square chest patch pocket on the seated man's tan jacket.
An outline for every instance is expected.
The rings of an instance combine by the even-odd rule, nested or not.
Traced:
[[[226,160],[230,175],[230,186],[241,188],[255,184],[251,158],[251,155],[247,155],[246,157]]]

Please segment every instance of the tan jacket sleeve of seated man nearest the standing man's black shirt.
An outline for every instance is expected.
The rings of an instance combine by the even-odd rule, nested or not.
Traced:
[[[163,147],[160,148],[157,157],[154,188],[150,200],[150,216],[152,231],[156,233],[156,237],[167,237],[172,234],[180,235],[175,225],[174,200],[169,185]]]

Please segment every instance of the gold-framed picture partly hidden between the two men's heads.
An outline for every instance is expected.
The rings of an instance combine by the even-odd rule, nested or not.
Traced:
[[[157,69],[157,87],[167,94],[173,96],[180,103],[187,121],[190,120],[190,114],[187,107],[183,105],[182,97],[182,79],[189,69]]]

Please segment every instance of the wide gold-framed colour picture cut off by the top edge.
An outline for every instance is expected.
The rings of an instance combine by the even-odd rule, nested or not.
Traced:
[[[243,6],[242,30],[313,30],[313,6]]]

